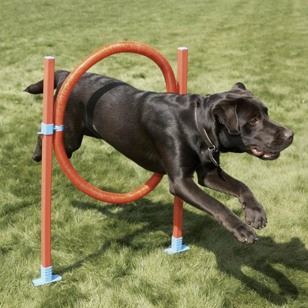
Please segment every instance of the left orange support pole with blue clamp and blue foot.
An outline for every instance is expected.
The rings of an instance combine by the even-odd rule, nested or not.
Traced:
[[[55,58],[44,57],[43,122],[42,135],[42,180],[41,180],[41,278],[32,280],[40,286],[62,279],[52,274],[51,265],[51,183],[52,183],[52,141],[54,109]]]

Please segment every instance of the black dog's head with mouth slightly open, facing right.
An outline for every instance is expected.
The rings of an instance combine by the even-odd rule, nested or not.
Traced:
[[[294,133],[272,121],[266,106],[241,82],[228,92],[211,95],[209,100],[222,152],[247,152],[272,160],[291,145]]]

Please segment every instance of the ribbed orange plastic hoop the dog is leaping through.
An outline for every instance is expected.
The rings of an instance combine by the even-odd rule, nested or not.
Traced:
[[[160,68],[164,76],[167,92],[177,92],[175,77],[172,68],[168,61],[157,50],[155,50],[149,45],[130,41],[108,44],[96,49],[86,58],[84,58],[64,81],[56,99],[54,112],[55,125],[64,125],[66,103],[71,91],[73,90],[75,84],[80,79],[80,77],[100,60],[110,55],[124,52],[144,55],[153,60]],[[153,190],[163,176],[162,174],[154,173],[145,184],[141,185],[135,190],[132,190],[127,193],[110,193],[92,186],[77,173],[65,152],[63,144],[63,131],[55,131],[54,149],[60,167],[62,168],[66,176],[70,179],[70,181],[83,193],[94,199],[101,200],[104,202],[128,203],[136,201],[147,195],[151,190]]]

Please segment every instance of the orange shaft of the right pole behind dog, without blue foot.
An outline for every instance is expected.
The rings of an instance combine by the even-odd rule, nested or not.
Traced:
[[[177,49],[177,91],[179,94],[187,93],[187,69],[188,69],[188,49],[179,47]],[[173,232],[175,238],[182,237],[183,223],[183,201],[174,197],[173,205]]]

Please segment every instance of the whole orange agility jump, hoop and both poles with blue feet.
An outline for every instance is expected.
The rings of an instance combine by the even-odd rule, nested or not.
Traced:
[[[147,195],[160,182],[162,174],[154,173],[143,185],[127,193],[110,193],[98,189],[86,182],[74,169],[64,148],[64,120],[67,100],[79,78],[97,62],[118,53],[136,53],[153,60],[160,68],[165,79],[167,92],[187,93],[187,60],[188,49],[177,49],[177,82],[168,61],[149,45],[123,41],[108,44],[96,49],[84,58],[70,73],[58,93],[55,108],[54,72],[55,58],[44,58],[44,89],[43,89],[43,121],[42,134],[42,181],[41,181],[41,278],[32,281],[34,286],[49,284],[62,279],[60,275],[52,274],[51,265],[51,187],[52,187],[52,144],[61,169],[70,181],[88,196],[108,203],[129,203]],[[174,197],[173,232],[171,247],[164,251],[168,254],[188,250],[182,244],[183,201]]]

